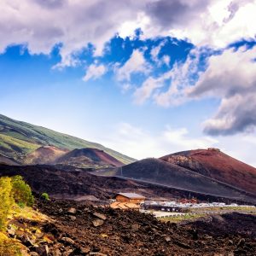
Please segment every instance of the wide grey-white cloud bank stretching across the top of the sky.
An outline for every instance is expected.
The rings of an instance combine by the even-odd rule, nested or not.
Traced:
[[[0,52],[26,44],[32,54],[49,54],[62,44],[61,65],[75,66],[74,53],[91,43],[96,55],[116,33],[144,38],[173,35],[194,44],[223,47],[254,38],[255,0],[2,0]]]

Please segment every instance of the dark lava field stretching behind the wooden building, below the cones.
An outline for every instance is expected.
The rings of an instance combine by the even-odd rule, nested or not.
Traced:
[[[90,170],[91,171],[91,170]],[[161,197],[169,201],[195,197],[198,201],[232,201],[228,198],[203,195],[182,189],[166,188],[151,183],[125,180],[118,177],[99,177],[91,175],[86,169],[73,166],[6,166],[0,165],[1,176],[20,175],[24,177],[36,193],[48,193],[51,197],[78,199],[95,196],[101,201],[113,198],[119,192],[134,192],[147,198]],[[50,181],[50,182],[49,182]],[[250,204],[250,202],[249,202]]]

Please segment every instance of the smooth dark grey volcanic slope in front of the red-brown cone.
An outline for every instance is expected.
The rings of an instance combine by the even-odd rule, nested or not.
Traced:
[[[214,195],[240,201],[255,201],[253,195],[241,189],[160,159],[139,160],[114,170],[95,173],[96,175],[123,177],[159,184],[203,195]]]

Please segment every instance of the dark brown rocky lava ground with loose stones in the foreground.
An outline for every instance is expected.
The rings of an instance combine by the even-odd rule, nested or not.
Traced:
[[[42,201],[52,220],[17,219],[12,230],[30,255],[255,255],[256,216],[229,213],[182,224],[161,223],[141,212],[76,201]],[[23,228],[22,228],[23,225]]]

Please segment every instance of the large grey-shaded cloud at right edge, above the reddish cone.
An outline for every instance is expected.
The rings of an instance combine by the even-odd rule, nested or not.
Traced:
[[[192,98],[221,99],[218,112],[205,123],[212,135],[252,131],[256,125],[256,49],[229,49],[212,56],[206,73],[187,91]]]

